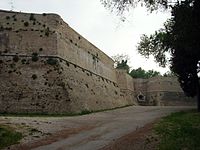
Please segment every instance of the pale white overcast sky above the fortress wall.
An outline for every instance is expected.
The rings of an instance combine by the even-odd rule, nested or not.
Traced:
[[[13,5],[12,5],[13,3]],[[14,6],[14,8],[12,7]],[[73,29],[105,52],[108,56],[127,54],[129,65],[135,69],[154,69],[161,73],[153,59],[144,59],[136,51],[142,34],[151,34],[163,26],[169,12],[148,13],[137,7],[127,15],[127,21],[110,13],[100,0],[1,0],[0,9],[35,13],[57,13]]]

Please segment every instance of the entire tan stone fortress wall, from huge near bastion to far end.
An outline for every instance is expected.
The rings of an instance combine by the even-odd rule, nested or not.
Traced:
[[[111,58],[56,14],[0,11],[0,112],[110,109],[140,104],[139,92],[146,105],[160,105],[169,96],[155,100],[152,93],[183,93],[178,83],[164,80],[135,80],[116,70]]]

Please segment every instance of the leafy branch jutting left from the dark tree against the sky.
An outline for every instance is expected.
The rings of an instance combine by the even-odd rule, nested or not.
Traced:
[[[142,35],[137,46],[137,50],[142,56],[148,58],[153,55],[155,61],[162,67],[165,67],[169,62],[167,54],[170,53],[171,34],[168,33],[171,33],[171,25],[172,20],[168,20],[164,24],[165,29],[160,29],[149,37]]]

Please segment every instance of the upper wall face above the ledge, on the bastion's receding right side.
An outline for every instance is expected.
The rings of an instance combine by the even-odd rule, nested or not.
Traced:
[[[64,21],[61,22],[58,32],[60,56],[113,82],[117,81],[111,58],[76,33]]]

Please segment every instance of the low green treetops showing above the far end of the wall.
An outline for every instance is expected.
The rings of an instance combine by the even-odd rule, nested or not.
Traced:
[[[160,76],[160,73],[157,72],[157,71],[154,71],[154,70],[145,71],[141,67],[139,67],[138,69],[133,69],[129,74],[133,78],[143,78],[143,79],[148,79],[148,78],[152,78],[152,77],[155,77],[155,76]]]

